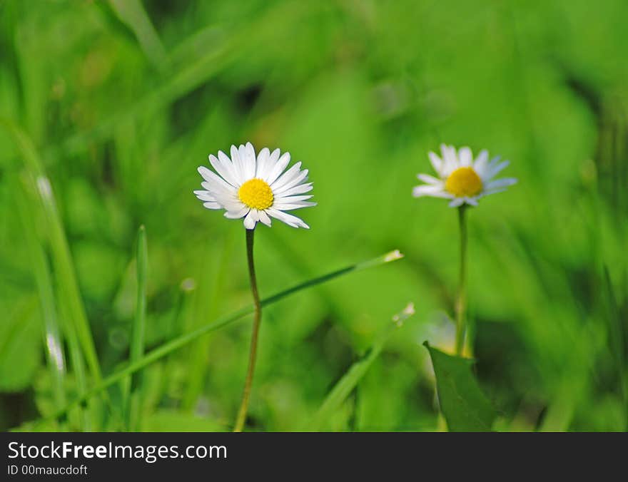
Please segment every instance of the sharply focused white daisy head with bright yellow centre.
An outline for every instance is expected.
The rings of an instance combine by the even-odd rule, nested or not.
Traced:
[[[307,182],[308,170],[301,170],[300,162],[285,170],[290,153],[280,155],[279,149],[271,153],[263,148],[255,156],[253,145],[246,143],[239,148],[232,145],[231,158],[218,151],[218,158],[210,155],[209,162],[216,173],[201,165],[198,173],[203,176],[201,185],[205,190],[194,191],[203,206],[224,209],[225,217],[230,219],[243,217],[248,230],[258,221],[270,226],[270,217],[292,227],[309,228],[303,220],[285,212],[316,205],[308,201],[311,195],[305,195],[312,190],[312,183]]]

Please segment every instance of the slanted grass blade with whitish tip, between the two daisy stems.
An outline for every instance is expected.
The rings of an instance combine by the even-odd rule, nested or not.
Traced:
[[[325,397],[320,409],[316,412],[313,419],[305,427],[306,431],[318,431],[325,428],[325,421],[329,420],[333,413],[338,410],[340,405],[347,399],[353,389],[358,386],[360,380],[363,379],[366,372],[373,364],[373,361],[380,355],[384,345],[388,342],[391,335],[402,326],[403,322],[414,314],[414,306],[408,304],[402,312],[395,314],[393,324],[385,327],[375,341],[369,347],[366,354],[350,366],[347,373],[333,386],[329,394]]]

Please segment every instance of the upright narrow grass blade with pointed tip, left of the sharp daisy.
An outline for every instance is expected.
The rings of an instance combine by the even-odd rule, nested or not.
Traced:
[[[131,326],[130,361],[135,363],[144,354],[144,333],[146,331],[146,272],[148,270],[148,247],[146,228],[138,230],[136,247],[137,302],[135,318]],[[138,430],[138,415],[141,407],[141,377],[139,373],[131,375],[126,381],[125,401],[126,426],[128,431]]]

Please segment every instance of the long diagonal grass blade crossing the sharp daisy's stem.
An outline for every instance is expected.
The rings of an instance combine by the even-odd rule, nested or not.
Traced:
[[[327,275],[323,275],[317,278],[313,278],[312,280],[308,280],[303,283],[297,284],[291,288],[285,289],[282,292],[274,294],[271,297],[262,299],[260,303],[263,307],[265,307],[265,306],[268,306],[269,304],[273,304],[280,301],[280,299],[290,296],[290,294],[295,294],[297,292],[300,292],[303,289],[314,287],[317,284],[322,284],[322,283],[334,280],[335,278],[341,277],[343,275],[347,275],[350,272],[357,272],[357,271],[367,270],[372,267],[385,265],[386,263],[393,262],[395,260],[400,260],[402,257],[403,255],[398,250],[391,251],[391,252],[386,253],[385,255],[375,257],[372,260],[360,262],[355,265],[345,267],[342,270],[334,271],[334,272],[328,273]],[[176,337],[175,339],[172,339],[170,342],[166,342],[165,344],[161,345],[161,347],[157,347],[151,350],[151,352],[148,352],[148,354],[146,354],[141,359],[138,359],[137,361],[129,364],[125,368],[108,376],[106,379],[104,379],[99,384],[94,386],[90,391],[88,391],[87,394],[83,396],[79,396],[76,400],[71,401],[68,405],[64,407],[64,409],[58,411],[56,414],[51,415],[51,416],[46,416],[44,419],[40,419],[39,421],[35,421],[34,423],[36,424],[46,423],[53,419],[58,419],[59,417],[64,416],[66,411],[68,411],[72,406],[79,404],[85,399],[88,399],[91,396],[98,394],[99,392],[107,389],[108,386],[111,386],[117,383],[118,381],[121,381],[126,376],[129,376],[130,374],[133,374],[136,371],[145,368],[146,366],[154,363],[155,361],[158,361],[159,359],[166,357],[166,355],[176,352],[176,350],[182,347],[185,347],[187,344],[195,342],[199,337],[202,337],[203,335],[208,334],[210,332],[214,332],[217,329],[226,327],[228,324],[231,324],[235,322],[236,320],[245,317],[248,314],[252,314],[253,309],[254,309],[253,304],[250,304],[247,307],[238,309],[238,311],[233,312],[232,314],[226,314],[223,317],[219,317],[214,322],[203,325],[202,327],[199,327],[198,329],[195,329],[192,332],[182,334],[181,336]]]

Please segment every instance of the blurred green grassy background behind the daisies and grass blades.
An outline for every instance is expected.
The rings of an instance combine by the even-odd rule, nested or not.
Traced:
[[[410,193],[441,142],[500,154],[520,183],[469,216],[472,351],[496,428],[627,429],[627,24],[625,0],[0,0],[0,428],[55,408],[37,266],[44,306],[61,327],[72,316],[19,126],[103,374],[128,359],[141,224],[147,349],[250,302],[241,221],[192,194],[231,143],[288,150],[314,182],[318,206],[295,213],[310,230],[257,230],[263,296],[405,253],[265,309],[248,426],[268,431],[306,426],[407,302],[415,317],[320,428],[442,429],[421,344],[453,343],[457,219]],[[71,399],[80,360],[61,337]],[[249,339],[250,318],[152,364],[139,428],[229,429]],[[103,411],[91,429],[121,426]]]

